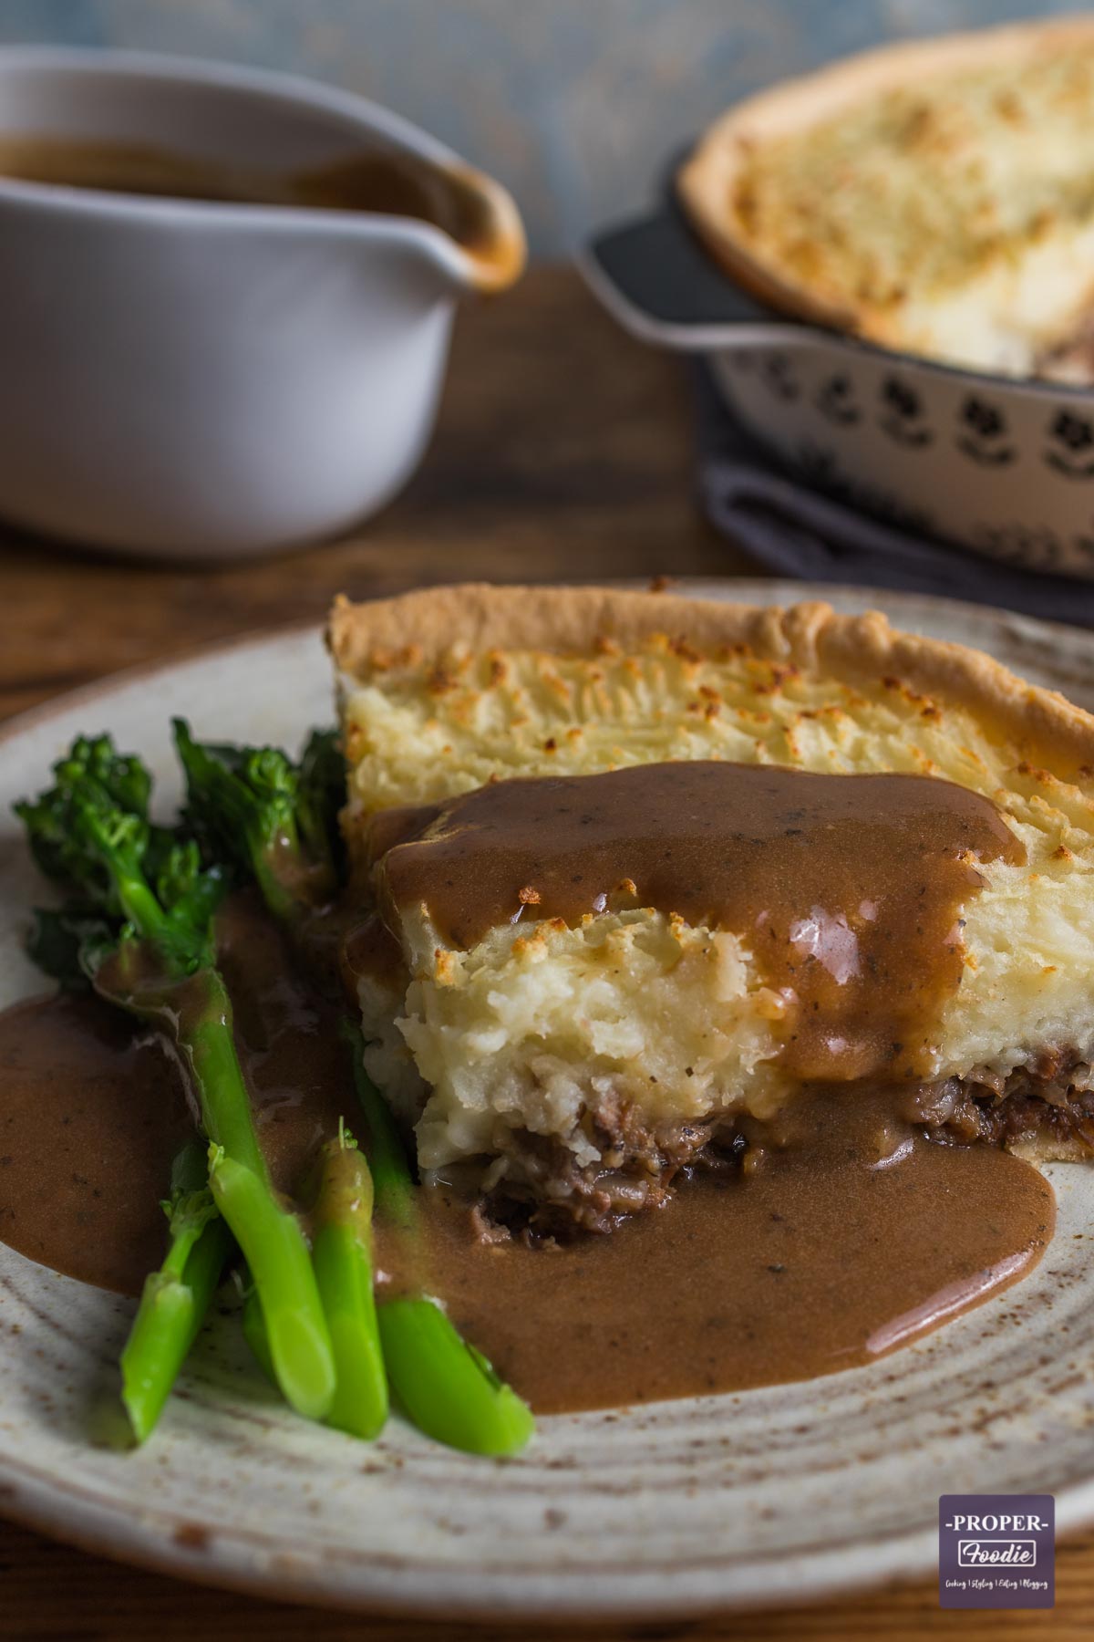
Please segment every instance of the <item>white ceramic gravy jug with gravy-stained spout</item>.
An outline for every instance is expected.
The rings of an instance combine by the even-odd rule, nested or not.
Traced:
[[[2,49],[0,516],[210,560],[343,530],[425,448],[456,299],[523,258],[502,187],[349,94]]]

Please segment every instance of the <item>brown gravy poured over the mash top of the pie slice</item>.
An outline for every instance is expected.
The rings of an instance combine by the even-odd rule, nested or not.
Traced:
[[[781,1059],[800,1080],[922,1074],[976,862],[1025,859],[951,782],[705,760],[497,782],[422,821],[377,869],[392,924],[425,903],[461,949],[623,906],[736,931],[789,1003]]]

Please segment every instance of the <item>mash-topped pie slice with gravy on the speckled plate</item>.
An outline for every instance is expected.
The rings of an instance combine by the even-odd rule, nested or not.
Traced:
[[[331,616],[367,1066],[425,1171],[604,1227],[818,1085],[1094,1149],[1094,718],[825,604]],[[499,1210],[502,1212],[502,1210]]]

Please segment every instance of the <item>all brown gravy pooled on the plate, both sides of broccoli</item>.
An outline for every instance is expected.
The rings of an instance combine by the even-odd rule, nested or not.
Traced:
[[[340,1117],[361,1126],[336,1007],[246,898],[221,916],[221,952],[262,1146],[290,1190]],[[120,1013],[59,997],[0,1013],[0,1236],[138,1292],[189,1131],[172,1062]],[[587,1409],[869,1361],[1023,1276],[1051,1235],[1035,1169],[935,1146],[881,1094],[799,1102],[753,1164],[564,1248],[476,1243],[467,1205],[423,1190],[435,1292],[536,1410]],[[377,1263],[395,1291],[417,1266],[382,1225]]]

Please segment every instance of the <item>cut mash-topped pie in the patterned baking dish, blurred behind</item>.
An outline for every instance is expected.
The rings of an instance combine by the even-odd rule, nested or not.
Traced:
[[[1091,18],[889,46],[740,103],[681,195],[776,307],[1068,378],[1094,297],[1091,107]]]

